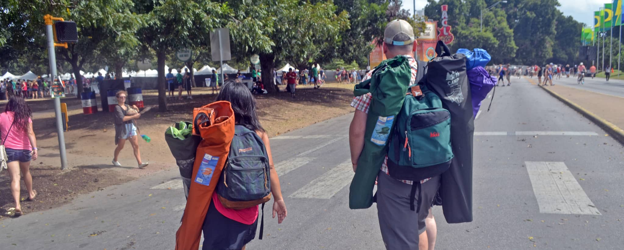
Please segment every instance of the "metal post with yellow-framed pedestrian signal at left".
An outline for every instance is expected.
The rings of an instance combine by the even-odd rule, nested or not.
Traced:
[[[65,21],[62,18],[59,17],[52,17],[51,15],[47,14],[46,16],[44,16],[44,21],[46,21],[46,36],[47,36],[47,52],[48,52],[48,56],[50,59],[50,82],[52,84],[54,84],[54,79],[56,78],[57,72],[56,72],[56,54],[54,53],[54,47],[55,46],[60,46],[60,47],[65,47],[67,49],[67,42],[62,42],[62,43],[56,43],[55,42],[55,37],[66,37],[68,38],[68,41],[77,41],[77,36],[74,39],[74,37],[72,36],[65,36],[64,34],[54,34],[54,21]],[[76,30],[72,30],[69,29],[72,26],[66,26],[64,27],[64,29],[62,29],[62,32],[67,32],[69,34],[72,34],[74,32],[77,31]],[[73,27],[76,27],[75,25]],[[57,30],[57,32],[60,32],[59,30]],[[61,84],[62,86],[62,82],[61,79],[59,77],[59,84]],[[57,136],[59,137],[59,155],[61,155],[61,169],[65,170],[67,169],[67,153],[65,150],[65,135],[63,132],[63,120],[62,120],[62,115],[61,115],[61,99],[59,99],[60,97],[53,97],[54,99],[54,115],[56,116],[56,133]]]

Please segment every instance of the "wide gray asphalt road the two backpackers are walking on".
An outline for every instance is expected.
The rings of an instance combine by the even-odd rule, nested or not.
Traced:
[[[474,222],[447,224],[434,208],[437,249],[621,249],[624,148],[536,85],[512,80],[475,122]],[[271,139],[288,218],[268,219],[265,239],[248,249],[383,249],[374,206],[348,209],[351,117]],[[0,221],[0,249],[172,249],[185,202],[177,175]]]

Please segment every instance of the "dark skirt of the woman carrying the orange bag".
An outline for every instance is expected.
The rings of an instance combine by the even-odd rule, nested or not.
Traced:
[[[210,223],[207,223],[210,221]],[[210,224],[210,226],[208,226]],[[210,203],[203,221],[203,250],[240,250],[256,237],[258,219],[253,224],[243,224],[223,216]]]

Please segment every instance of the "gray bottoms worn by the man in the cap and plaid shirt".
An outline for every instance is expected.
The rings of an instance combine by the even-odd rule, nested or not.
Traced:
[[[418,236],[425,231],[425,218],[440,186],[440,176],[422,183],[422,190],[416,190],[414,204],[422,191],[419,213],[409,209],[412,185],[383,171],[379,172],[377,183],[377,216],[386,249],[418,249]]]

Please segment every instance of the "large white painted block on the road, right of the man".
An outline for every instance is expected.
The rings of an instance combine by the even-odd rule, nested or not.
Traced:
[[[600,214],[563,162],[525,161],[540,213]]]

